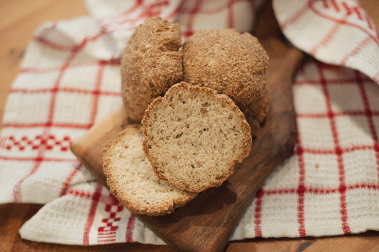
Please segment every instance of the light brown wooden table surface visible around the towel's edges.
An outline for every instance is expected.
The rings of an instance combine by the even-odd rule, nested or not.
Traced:
[[[379,27],[379,1],[361,0]],[[17,75],[24,50],[36,27],[47,20],[85,15],[85,3],[78,0],[0,0],[0,116],[8,89]],[[0,119],[1,120],[1,119]],[[64,246],[25,241],[20,226],[41,208],[39,204],[0,205],[0,251],[173,251],[168,246],[110,244]],[[379,232],[361,235],[305,239],[245,239],[229,243],[227,251],[379,251]]]

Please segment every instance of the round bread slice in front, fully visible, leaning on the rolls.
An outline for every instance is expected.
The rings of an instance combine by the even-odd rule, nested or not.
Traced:
[[[142,123],[155,174],[190,192],[220,186],[252,144],[243,113],[227,95],[184,82],[155,99]]]

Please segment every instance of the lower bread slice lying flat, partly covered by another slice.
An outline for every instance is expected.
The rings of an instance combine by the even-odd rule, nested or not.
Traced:
[[[171,214],[196,197],[161,181],[142,149],[141,125],[129,125],[103,148],[103,172],[110,192],[134,214]]]

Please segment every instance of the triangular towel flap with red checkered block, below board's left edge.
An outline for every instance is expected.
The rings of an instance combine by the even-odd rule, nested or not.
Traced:
[[[122,241],[164,244],[106,188],[90,181],[72,185],[62,197],[45,204],[22,226],[20,235],[35,241],[62,244],[90,245]]]

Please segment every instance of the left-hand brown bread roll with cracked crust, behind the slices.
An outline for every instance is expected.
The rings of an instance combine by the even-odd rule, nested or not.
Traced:
[[[149,18],[131,35],[122,56],[122,99],[128,115],[140,122],[148,104],[183,77],[180,28]]]

